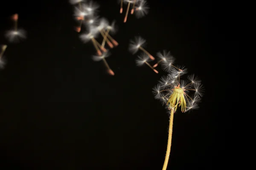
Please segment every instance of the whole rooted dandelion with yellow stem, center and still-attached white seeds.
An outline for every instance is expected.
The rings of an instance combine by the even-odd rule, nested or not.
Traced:
[[[198,109],[198,102],[200,102],[200,97],[203,96],[203,86],[201,85],[201,81],[198,77],[195,77],[194,74],[188,76],[188,81],[180,80],[180,77],[186,73],[186,69],[182,66],[172,67],[169,70],[169,74],[162,77],[159,84],[153,88],[155,98],[160,99],[171,112],[169,137],[163,170],[166,170],[167,168],[171,152],[174,113],[177,111],[177,108],[180,108],[181,112]],[[194,93],[189,95],[189,92]]]

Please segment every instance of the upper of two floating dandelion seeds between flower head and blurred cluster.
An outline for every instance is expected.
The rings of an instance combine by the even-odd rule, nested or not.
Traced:
[[[148,57],[151,60],[154,60],[155,58],[148,53],[148,51],[146,51],[142,46],[145,44],[146,40],[144,40],[142,37],[135,37],[135,40],[131,40],[130,44],[129,44],[129,51],[132,54],[137,53],[137,51],[140,49],[142,50],[145,54],[148,55]]]

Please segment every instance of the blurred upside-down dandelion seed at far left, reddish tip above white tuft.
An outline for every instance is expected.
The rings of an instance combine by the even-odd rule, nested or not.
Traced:
[[[26,39],[26,31],[18,29],[18,14],[12,15],[11,19],[14,21],[14,28],[6,31],[6,38],[9,42],[20,42],[20,40]]]

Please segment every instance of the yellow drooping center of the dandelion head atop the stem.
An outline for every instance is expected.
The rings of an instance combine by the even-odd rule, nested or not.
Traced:
[[[184,96],[184,91],[179,86],[173,89],[173,93],[170,95],[167,105],[169,104],[169,110],[177,110],[177,106],[181,106],[181,111],[186,111],[186,100]]]

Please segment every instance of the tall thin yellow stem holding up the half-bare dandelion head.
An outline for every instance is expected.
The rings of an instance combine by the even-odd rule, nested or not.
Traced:
[[[166,168],[167,168],[169,157],[170,157],[170,153],[171,153],[173,116],[174,116],[174,108],[171,109],[170,124],[169,124],[169,134],[168,134],[168,143],[167,143],[166,157],[165,157],[164,164],[163,164],[163,170],[166,170]]]

